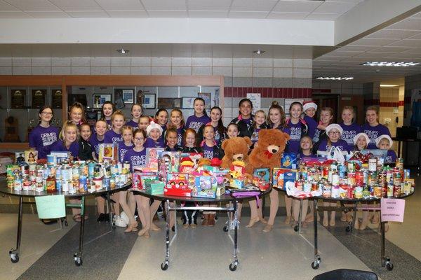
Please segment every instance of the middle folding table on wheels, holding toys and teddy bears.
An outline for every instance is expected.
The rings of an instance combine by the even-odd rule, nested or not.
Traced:
[[[259,197],[262,197],[263,195],[267,195],[267,193],[270,192],[270,188],[269,190],[266,190],[264,193],[260,193]],[[177,236],[177,210],[203,210],[203,211],[227,211],[227,213],[232,213],[233,218],[230,218],[227,221],[227,223],[225,223],[224,227],[222,228],[222,230],[224,230],[224,232],[229,232],[229,230],[234,230],[234,253],[233,253],[233,260],[232,262],[229,264],[229,270],[231,271],[235,271],[237,268],[237,265],[239,264],[239,259],[238,259],[238,228],[239,228],[239,221],[238,221],[238,213],[237,213],[237,206],[239,202],[243,202],[243,201],[247,201],[247,200],[253,200],[253,198],[255,198],[255,196],[250,196],[250,197],[233,197],[232,195],[229,194],[225,194],[225,195],[221,195],[220,197],[216,197],[216,198],[203,198],[203,197],[176,197],[176,196],[171,196],[171,195],[149,195],[147,193],[145,193],[142,190],[133,190],[134,192],[136,192],[139,195],[145,196],[145,197],[149,197],[152,198],[154,200],[160,200],[160,201],[164,201],[166,202],[165,204],[165,208],[166,208],[166,213],[167,213],[167,219],[166,219],[166,235],[165,235],[165,244],[166,244],[166,253],[165,253],[165,259],[164,261],[161,263],[161,269],[162,270],[166,270],[168,269],[168,266],[170,264],[170,245],[172,243],[172,240]],[[174,206],[170,205],[170,202],[194,202],[195,204],[218,204],[218,203],[222,203],[222,205],[224,204],[229,204],[228,207],[208,207],[208,206],[203,206],[203,205],[199,205],[196,207],[185,207],[185,206],[177,206],[177,204],[175,203]],[[175,211],[175,233],[173,236],[173,239],[170,239],[170,233],[171,233],[171,229],[170,229],[170,211]]]

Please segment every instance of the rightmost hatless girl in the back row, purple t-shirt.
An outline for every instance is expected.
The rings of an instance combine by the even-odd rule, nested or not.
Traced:
[[[366,110],[366,121],[361,128],[365,134],[370,138],[370,143],[368,144],[369,149],[375,149],[375,139],[380,135],[389,135],[390,132],[385,125],[379,123],[379,109],[376,106],[370,106]]]

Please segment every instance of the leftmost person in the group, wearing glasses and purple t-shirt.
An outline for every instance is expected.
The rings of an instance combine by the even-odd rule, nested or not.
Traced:
[[[38,151],[38,158],[47,158],[51,145],[58,139],[58,128],[50,125],[54,116],[50,106],[39,109],[39,125],[29,133],[29,148]]]

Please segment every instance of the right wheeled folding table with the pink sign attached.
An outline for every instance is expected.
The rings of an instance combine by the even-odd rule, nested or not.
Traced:
[[[400,199],[403,199],[405,197],[409,197],[410,195],[413,195],[413,193],[410,193],[409,195],[403,195],[401,197],[398,197]],[[392,197],[393,198],[393,197]],[[355,221],[356,221],[356,211],[358,210],[375,210],[375,211],[381,211],[380,208],[380,198],[369,198],[369,199],[347,199],[347,198],[326,198],[326,197],[309,197],[309,199],[313,200],[314,204],[314,260],[312,262],[312,268],[318,269],[321,263],[321,257],[319,255],[318,251],[318,235],[317,235],[317,212],[318,211],[336,211],[336,210],[344,210],[344,211],[354,211],[352,222],[349,222],[347,225],[347,228],[345,228],[345,231],[350,235],[352,234],[352,229],[354,228]],[[317,202],[319,200],[324,200],[326,202],[340,202],[340,207],[319,207]],[[368,203],[368,202],[378,202],[377,207],[357,207],[357,204],[359,202],[362,203]],[[346,205],[348,204],[348,206]],[[349,205],[352,204],[352,205]],[[381,218],[381,213],[380,213]],[[382,222],[380,219],[380,238],[381,238],[381,246],[380,246],[380,260],[382,267],[386,267],[387,270],[393,269],[393,263],[390,260],[390,258],[385,253],[385,224],[387,222]]]

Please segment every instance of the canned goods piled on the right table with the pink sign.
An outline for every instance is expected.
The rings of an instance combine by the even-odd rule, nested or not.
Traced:
[[[377,158],[357,166],[356,162],[340,165],[309,167],[300,165],[295,187],[305,192],[318,190],[323,197],[343,199],[370,199],[401,197],[414,191],[410,172],[403,169],[403,160],[396,160],[396,167],[377,165]]]

